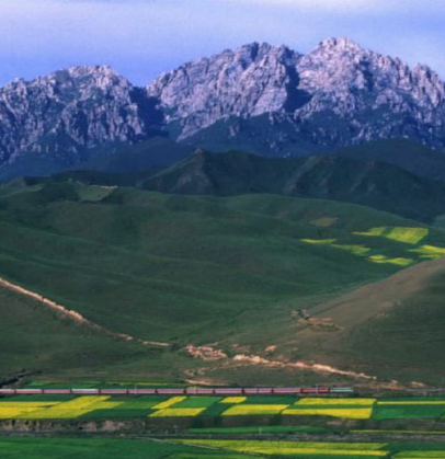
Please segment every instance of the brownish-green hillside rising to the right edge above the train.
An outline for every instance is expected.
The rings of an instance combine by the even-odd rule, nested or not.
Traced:
[[[301,329],[294,345],[307,358],[324,356],[334,366],[379,379],[443,387],[444,280],[441,259],[320,303],[313,313],[331,318],[339,330]]]

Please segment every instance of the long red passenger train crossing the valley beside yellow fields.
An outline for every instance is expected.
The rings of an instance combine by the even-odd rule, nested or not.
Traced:
[[[329,395],[353,394],[352,388],[113,388],[113,389],[1,389],[0,395]]]

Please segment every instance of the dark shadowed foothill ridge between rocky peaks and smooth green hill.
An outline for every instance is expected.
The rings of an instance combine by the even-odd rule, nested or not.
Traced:
[[[431,221],[445,213],[445,185],[399,167],[341,156],[263,158],[198,150],[139,182],[139,187],[185,195],[269,193],[355,203]]]

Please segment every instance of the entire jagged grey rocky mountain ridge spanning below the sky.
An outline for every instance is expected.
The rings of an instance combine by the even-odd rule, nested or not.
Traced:
[[[91,149],[153,136],[266,156],[408,138],[445,148],[445,85],[425,66],[330,38],[307,55],[253,43],[147,88],[73,67],[0,89],[0,165],[32,154],[69,169]]]

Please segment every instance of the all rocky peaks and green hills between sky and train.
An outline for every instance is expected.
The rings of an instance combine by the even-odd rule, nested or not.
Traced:
[[[444,97],[346,38],[0,89],[0,385],[440,387]]]

